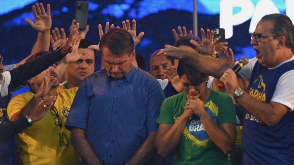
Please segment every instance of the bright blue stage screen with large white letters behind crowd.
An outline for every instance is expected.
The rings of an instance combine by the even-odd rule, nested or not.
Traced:
[[[36,2],[50,3],[52,29],[63,27],[69,34],[74,17],[75,1],[72,0],[2,0],[0,5],[0,53],[4,64],[17,63],[27,55],[36,41],[37,32],[25,21],[33,20],[32,5]],[[97,0],[89,2],[89,33],[86,39],[99,42],[98,24],[106,22],[122,26],[126,19],[136,19],[137,33],[145,32],[136,51],[150,55],[165,44],[174,44],[172,29],[186,26],[192,29],[193,0]],[[235,58],[255,56],[250,46],[249,31],[253,32],[262,16],[271,13],[294,16],[293,0],[198,0],[198,27],[225,28],[226,41],[233,49]],[[103,27],[104,28],[104,27]],[[198,34],[200,30],[198,30]],[[101,67],[100,61],[96,70]],[[149,69],[149,66],[148,66]]]

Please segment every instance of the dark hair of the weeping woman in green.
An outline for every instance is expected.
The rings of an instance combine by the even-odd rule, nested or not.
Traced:
[[[180,78],[185,74],[193,84],[201,84],[206,81],[208,75],[189,65],[186,61],[180,60],[177,68],[177,74]]]

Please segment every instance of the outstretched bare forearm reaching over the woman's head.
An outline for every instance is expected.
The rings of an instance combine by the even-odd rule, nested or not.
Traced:
[[[233,68],[235,65],[235,62],[226,62],[194,52],[187,54],[186,61],[196,69],[216,78],[220,78],[227,69]]]

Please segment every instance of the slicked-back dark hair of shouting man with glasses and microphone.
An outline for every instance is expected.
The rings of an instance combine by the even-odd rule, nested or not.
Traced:
[[[286,47],[293,47],[293,23],[285,14],[269,14],[263,16],[260,21],[271,21],[273,23],[272,33],[276,37],[284,36],[286,38]],[[259,22],[260,22],[259,21]]]

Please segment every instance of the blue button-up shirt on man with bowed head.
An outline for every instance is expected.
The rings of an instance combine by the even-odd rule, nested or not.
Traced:
[[[82,81],[65,127],[85,129],[101,163],[124,164],[158,130],[164,99],[158,81],[139,68],[119,80],[102,69]]]

